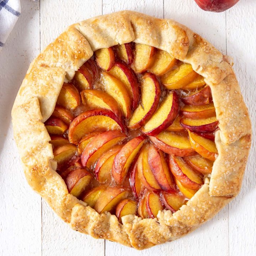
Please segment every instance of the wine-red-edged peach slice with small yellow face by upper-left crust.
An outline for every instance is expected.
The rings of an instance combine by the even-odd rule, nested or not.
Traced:
[[[86,64],[80,66],[79,70],[75,72],[73,83],[79,88],[79,90],[86,90],[92,88],[93,82],[94,74],[92,69]]]

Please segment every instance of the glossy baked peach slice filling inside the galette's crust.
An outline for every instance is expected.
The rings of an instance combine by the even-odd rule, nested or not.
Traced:
[[[210,87],[190,64],[144,44],[97,50],[63,84],[45,126],[69,193],[120,222],[176,212],[218,156]]]

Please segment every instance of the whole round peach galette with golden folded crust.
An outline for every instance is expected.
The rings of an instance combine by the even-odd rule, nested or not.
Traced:
[[[131,11],[61,34],[12,117],[34,190],[73,229],[136,249],[180,238],[236,196],[251,141],[231,59]]]

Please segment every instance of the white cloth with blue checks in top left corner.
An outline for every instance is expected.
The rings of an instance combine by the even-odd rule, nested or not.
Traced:
[[[18,20],[20,11],[20,0],[0,0],[0,51]]]

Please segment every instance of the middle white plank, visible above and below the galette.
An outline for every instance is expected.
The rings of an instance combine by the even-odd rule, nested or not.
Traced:
[[[164,17],[164,5],[162,0],[155,1],[138,1],[138,0],[103,0],[102,11],[103,14],[108,14],[111,12],[121,11],[121,10],[132,10],[143,12],[145,14],[163,18]],[[145,251],[136,251],[132,248],[119,245],[114,242],[106,241],[106,256],[112,255],[122,255],[122,256],[149,256],[149,255],[166,255],[165,245],[159,245],[153,248],[150,248]]]

